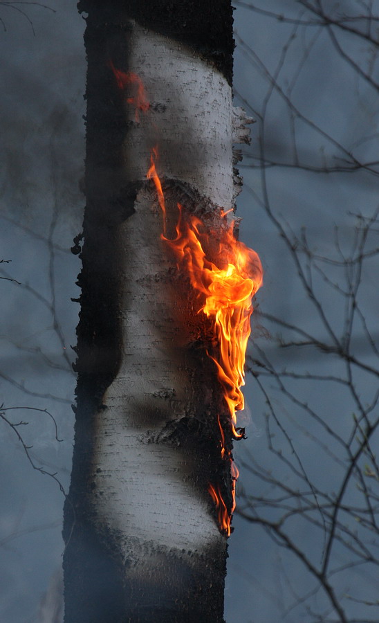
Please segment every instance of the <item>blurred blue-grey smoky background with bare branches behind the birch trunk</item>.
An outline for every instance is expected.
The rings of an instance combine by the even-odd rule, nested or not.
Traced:
[[[234,1],[240,237],[260,255],[228,623],[377,622],[378,0]],[[53,622],[73,442],[86,61],[0,1],[0,620]],[[33,469],[34,468],[34,469]],[[36,469],[37,468],[37,469]],[[49,618],[50,617],[50,618]],[[57,613],[57,621],[59,614]]]

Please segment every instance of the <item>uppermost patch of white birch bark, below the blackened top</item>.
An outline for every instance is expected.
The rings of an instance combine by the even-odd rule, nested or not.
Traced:
[[[151,147],[159,145],[165,177],[187,182],[214,204],[232,204],[232,90],[214,66],[178,42],[137,24],[130,69],[145,85],[151,108],[129,132],[125,165],[145,179]],[[134,110],[126,106],[134,119]]]

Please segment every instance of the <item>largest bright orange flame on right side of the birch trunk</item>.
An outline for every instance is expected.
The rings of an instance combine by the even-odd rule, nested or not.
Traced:
[[[262,283],[261,262],[257,253],[234,237],[235,221],[228,223],[227,213],[221,212],[221,230],[207,230],[195,215],[183,217],[178,204],[179,217],[176,237],[166,237],[166,208],[162,185],[156,172],[156,148],[151,154],[147,178],[156,186],[158,201],[163,212],[164,240],[174,251],[178,264],[190,276],[192,287],[201,299],[198,313],[213,320],[216,354],[207,353],[214,361],[223,387],[223,395],[230,413],[234,437],[242,435],[236,430],[236,412],[244,408],[241,386],[244,384],[246,347],[250,336],[252,297]],[[207,257],[207,250],[218,240],[218,248],[212,249],[216,262]],[[212,244],[211,244],[212,242]],[[221,424],[220,424],[221,428]]]

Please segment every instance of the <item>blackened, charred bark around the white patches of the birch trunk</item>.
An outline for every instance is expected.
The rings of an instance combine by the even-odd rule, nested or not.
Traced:
[[[149,218],[153,217],[143,211],[143,206],[155,201],[151,184],[131,174],[125,165],[127,159],[133,160],[133,154],[125,153],[125,145],[129,144],[128,136],[135,124],[125,116],[124,94],[118,89],[109,62],[128,71],[133,28],[137,23],[181,42],[190,54],[211,64],[230,84],[232,9],[229,0],[211,0],[206,7],[199,0],[181,3],[81,0],[79,8],[88,12],[86,210],[82,271],[78,278],[82,294],[75,364],[78,375],[75,446],[71,487],[64,510],[64,621],[221,623],[227,548],[217,527],[207,485],[210,481],[219,482],[231,507],[229,464],[221,460],[217,424],[217,414],[221,413],[223,419],[225,405],[214,365],[205,352],[210,347],[206,323],[196,316],[189,286],[178,275],[172,259],[165,258],[158,234],[154,237],[157,243],[153,254],[154,258],[162,254],[158,262],[163,267],[159,264],[155,269],[150,267],[145,282],[138,280],[140,290],[137,291],[141,298],[146,294],[151,300],[155,295],[154,290],[148,294],[150,282],[160,284],[167,291],[167,301],[163,300],[151,313],[162,314],[167,305],[167,318],[159,321],[159,325],[154,320],[154,330],[158,331],[158,340],[168,341],[169,363],[165,365],[167,370],[170,366],[176,372],[179,370],[183,387],[178,390],[163,386],[149,395],[149,401],[137,392],[132,399],[129,396],[122,409],[125,422],[138,431],[136,437],[142,449],[167,449],[180,456],[182,480],[201,500],[202,507],[207,508],[210,523],[214,525],[214,536],[209,543],[203,543],[201,548],[183,545],[181,551],[178,547],[170,549],[154,543],[154,539],[148,543],[146,539],[140,542],[136,536],[125,540],[124,527],[116,529],[98,511],[108,486],[107,480],[102,484],[107,469],[99,460],[98,446],[99,438],[108,434],[109,445],[114,444],[114,431],[109,433],[102,428],[102,414],[113,408],[111,388],[115,383],[120,386],[120,370],[133,375],[136,367],[130,363],[134,368],[128,372],[125,355],[125,343],[133,337],[128,335],[131,330],[128,329],[129,281],[133,275],[125,276],[127,270],[131,273],[134,270],[130,249],[133,222],[140,219],[142,233],[151,228],[158,231],[158,222],[151,224]],[[210,199],[187,187],[185,182],[168,177],[164,186],[173,215],[179,200],[189,210],[198,210],[199,206],[201,209],[202,205],[204,211],[214,209]],[[146,240],[147,245],[151,244],[149,236]],[[184,326],[183,318],[187,319]],[[167,338],[170,332],[171,337]],[[129,361],[133,361],[132,356]],[[145,369],[142,364],[141,369],[142,374],[148,375],[149,363],[145,363]],[[121,433],[128,434],[123,428]],[[227,425],[225,437],[230,446]],[[124,464],[128,464],[127,458]],[[143,486],[143,464],[140,472]],[[132,495],[127,503],[133,507]],[[159,504],[157,495],[156,505]],[[160,513],[166,511],[163,505]],[[183,512],[185,517],[185,509]],[[166,521],[169,525],[170,516]],[[139,559],[145,559],[145,567],[139,566]]]

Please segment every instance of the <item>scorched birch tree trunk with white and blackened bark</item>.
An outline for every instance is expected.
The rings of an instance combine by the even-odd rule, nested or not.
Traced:
[[[87,201],[64,620],[219,623],[226,540],[208,489],[230,512],[225,404],[146,174],[158,145],[169,237],[178,202],[210,219],[233,205],[230,0],[79,6]],[[142,100],[117,71],[138,76]]]

